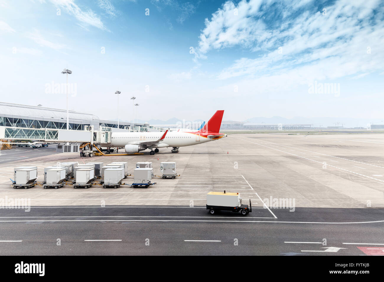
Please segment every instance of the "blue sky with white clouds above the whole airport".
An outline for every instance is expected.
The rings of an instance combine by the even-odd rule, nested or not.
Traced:
[[[131,96],[144,120],[383,119],[378,0],[0,0],[0,38],[3,102],[65,108],[68,65],[70,109],[103,119],[117,89],[123,120]]]

